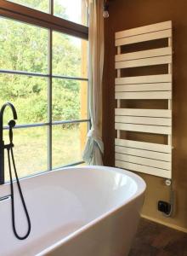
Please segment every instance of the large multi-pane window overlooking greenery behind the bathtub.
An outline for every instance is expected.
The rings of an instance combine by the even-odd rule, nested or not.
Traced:
[[[7,11],[6,17],[0,7],[0,105],[12,102],[18,113],[14,153],[19,175],[25,177],[82,164],[89,124],[87,31],[77,24],[71,29],[72,23],[69,26],[67,21],[69,12],[65,26],[59,17],[54,20],[55,26],[54,22],[47,23],[47,14],[43,14],[41,24],[35,16],[26,20],[21,9],[27,8],[21,6],[15,19],[13,10],[19,7],[15,3],[49,12],[60,1],[52,1],[51,8],[46,0],[13,2],[8,3],[7,8],[13,9]],[[84,1],[78,2],[82,8]],[[64,3],[58,5],[59,13],[65,14]],[[38,11],[35,12],[37,15]],[[54,15],[49,15],[53,19]],[[12,115],[7,108],[3,119],[5,143],[8,143],[8,119]],[[8,180],[7,160],[5,170]]]

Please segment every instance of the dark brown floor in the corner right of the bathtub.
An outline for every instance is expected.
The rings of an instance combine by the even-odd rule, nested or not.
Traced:
[[[187,256],[187,234],[141,218],[129,256]]]

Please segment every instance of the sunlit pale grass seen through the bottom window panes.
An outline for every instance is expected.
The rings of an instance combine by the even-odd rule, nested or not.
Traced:
[[[8,131],[4,131],[8,143]],[[53,168],[82,160],[80,129],[53,127]],[[32,127],[14,130],[14,158],[19,177],[48,169],[48,128]],[[9,180],[8,160],[5,152],[5,179]]]

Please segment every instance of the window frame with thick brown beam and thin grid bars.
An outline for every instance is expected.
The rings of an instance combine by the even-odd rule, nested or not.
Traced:
[[[69,76],[53,74],[52,72],[53,32],[61,32],[73,37],[88,40],[88,26],[82,26],[72,21],[54,16],[54,0],[49,0],[49,3],[50,3],[50,12],[49,14],[47,14],[37,9],[31,9],[29,7],[20,5],[18,3],[12,3],[6,0],[0,0],[0,16],[3,16],[4,18],[9,18],[11,20],[21,21],[29,25],[40,26],[42,28],[48,29],[48,73],[47,74],[0,69],[0,73],[48,78],[48,122],[16,125],[14,127],[14,129],[21,129],[21,128],[48,126],[48,170],[44,172],[53,171],[65,166],[77,166],[84,163],[84,161],[82,160],[82,161],[70,163],[65,166],[58,166],[53,168],[52,130],[54,125],[88,123],[88,127],[90,127],[89,117],[88,119],[72,119],[72,120],[59,120],[59,121],[53,121],[52,119],[52,114],[53,114],[52,113],[52,104],[53,104],[52,80],[53,79],[69,79],[69,80],[79,80],[79,81],[88,82],[88,78],[82,78],[82,77],[77,78],[77,77],[69,77]],[[88,90],[89,90],[89,86],[88,86]],[[3,129],[7,130],[8,125],[3,126]],[[43,171],[41,170],[39,173],[41,172]],[[34,172],[29,176],[32,176],[32,175],[36,175],[36,172]]]

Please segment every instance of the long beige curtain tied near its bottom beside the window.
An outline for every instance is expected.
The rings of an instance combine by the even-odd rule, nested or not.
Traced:
[[[87,0],[89,14],[89,113],[91,130],[83,152],[88,165],[102,166],[102,79],[104,65],[103,0]]]

